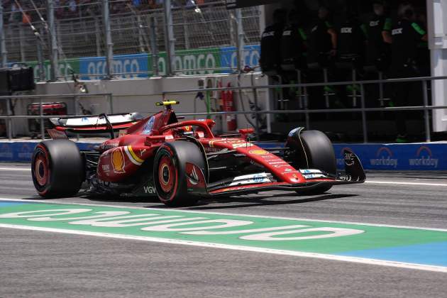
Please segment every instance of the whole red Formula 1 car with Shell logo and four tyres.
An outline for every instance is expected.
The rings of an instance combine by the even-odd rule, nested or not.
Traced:
[[[171,107],[177,103],[158,103],[165,110],[148,118],[101,114],[51,119],[53,140],[39,143],[33,154],[38,194],[66,197],[86,182],[95,194],[158,196],[168,206],[179,206],[266,190],[321,194],[333,185],[365,181],[360,161],[348,150],[346,175],[337,176],[333,147],[324,133],[295,128],[284,148],[263,149],[248,140],[253,129],[227,138],[214,136],[212,120],[179,122]],[[110,132],[111,139],[94,151],[79,151],[65,131]]]

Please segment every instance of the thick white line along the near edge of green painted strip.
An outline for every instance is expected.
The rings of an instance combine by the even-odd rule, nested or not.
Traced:
[[[3,224],[3,223],[0,223],[0,228],[17,228],[17,229],[21,229],[21,230],[65,233],[65,234],[75,234],[75,235],[82,235],[82,236],[97,236],[97,237],[118,238],[118,239],[127,239],[127,240],[150,241],[150,242],[158,242],[158,243],[182,244],[182,245],[192,245],[192,246],[200,246],[200,247],[206,247],[206,248],[224,248],[224,249],[230,249],[230,250],[250,251],[250,252],[255,252],[255,253],[272,253],[275,255],[292,255],[292,256],[302,257],[302,258],[318,258],[318,259],[324,259],[324,260],[338,260],[338,261],[351,262],[351,263],[381,265],[381,266],[388,266],[388,267],[399,267],[399,268],[426,270],[426,271],[434,271],[434,272],[446,272],[447,273],[447,267],[441,267],[441,266],[401,263],[401,262],[393,262],[393,261],[387,261],[387,260],[374,260],[374,259],[368,259],[368,258],[354,258],[354,257],[341,256],[341,255],[326,255],[326,254],[322,254],[322,253],[304,253],[304,252],[295,252],[295,251],[289,251],[289,250],[276,250],[276,249],[269,249],[269,248],[253,248],[253,247],[242,246],[242,245],[226,245],[226,244],[218,244],[218,243],[204,243],[204,242],[173,240],[173,239],[153,238],[153,237],[144,237],[144,236],[128,236],[128,235],[120,235],[120,234],[113,234],[113,233],[73,231],[73,230],[66,230],[63,228],[41,228],[41,227],[35,227],[35,226],[18,226],[18,225]]]

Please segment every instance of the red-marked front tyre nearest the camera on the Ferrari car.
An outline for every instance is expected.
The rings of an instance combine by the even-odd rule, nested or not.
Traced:
[[[154,159],[154,184],[158,198],[167,206],[188,206],[198,198],[187,191],[187,162],[197,165],[206,177],[206,162],[196,144],[177,140],[162,145]]]

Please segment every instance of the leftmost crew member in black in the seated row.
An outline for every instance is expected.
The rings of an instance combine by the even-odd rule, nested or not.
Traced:
[[[261,35],[260,66],[263,72],[280,72],[281,37],[286,26],[287,11],[276,9],[273,12],[273,25],[265,28]]]

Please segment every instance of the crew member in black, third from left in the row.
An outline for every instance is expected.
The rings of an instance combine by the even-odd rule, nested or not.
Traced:
[[[318,12],[319,21],[310,34],[309,56],[311,62],[321,61],[321,57],[336,56],[337,33],[329,21],[329,9],[321,6]]]

